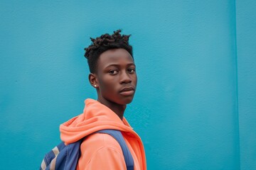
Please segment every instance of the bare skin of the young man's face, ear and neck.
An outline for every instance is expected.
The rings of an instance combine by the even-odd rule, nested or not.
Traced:
[[[137,86],[135,64],[129,52],[122,48],[102,52],[97,60],[97,71],[89,74],[89,80],[97,90],[97,101],[122,120]]]

